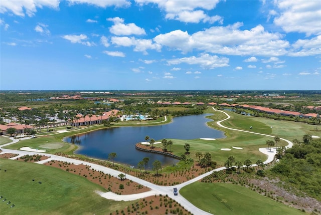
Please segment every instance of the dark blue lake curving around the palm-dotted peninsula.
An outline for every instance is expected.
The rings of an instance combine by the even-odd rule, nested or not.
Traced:
[[[165,139],[199,139],[199,138],[223,138],[224,132],[215,130],[206,125],[212,121],[205,118],[211,114],[175,117],[172,123],[156,126],[117,127],[91,131],[86,134],[66,137],[65,142],[80,146],[75,151],[77,154],[93,158],[108,158],[108,154],[116,152],[115,162],[128,166],[137,166],[144,157],[149,157],[148,168],[152,167],[154,160],[159,160],[163,165],[173,165],[177,159],[143,152],[135,149],[135,144],[145,142],[145,136],[155,141]],[[173,141],[175,144],[175,141]]]

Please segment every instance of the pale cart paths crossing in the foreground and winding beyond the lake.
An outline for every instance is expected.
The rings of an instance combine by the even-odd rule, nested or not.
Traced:
[[[216,109],[214,109],[214,110],[223,112],[227,116],[226,119],[217,122],[217,124],[219,126],[223,127],[223,128],[230,129],[230,130],[235,130],[235,131],[252,133],[252,134],[258,134],[258,135],[263,135],[263,136],[268,136],[268,137],[274,137],[272,135],[260,134],[260,133],[256,133],[256,132],[244,131],[244,130],[240,130],[240,129],[228,128],[226,126],[223,126],[223,125],[221,125],[221,122],[223,122],[225,120],[228,120],[231,117],[227,113],[225,113],[224,111],[216,110]],[[117,170],[114,170],[114,169],[110,169],[110,168],[105,167],[105,166],[100,166],[98,164],[94,164],[94,163],[90,163],[90,162],[86,162],[86,161],[82,161],[82,160],[77,160],[77,159],[72,159],[72,158],[67,158],[67,157],[62,157],[62,156],[58,156],[58,155],[47,154],[47,153],[39,153],[39,152],[12,150],[12,149],[3,149],[2,147],[6,146],[6,145],[14,144],[14,143],[19,141],[19,139],[14,139],[14,138],[11,138],[11,139],[13,140],[13,142],[7,143],[7,144],[4,144],[4,145],[0,146],[0,149],[3,150],[2,153],[19,154],[18,156],[10,158],[10,159],[17,159],[17,157],[24,156],[24,155],[27,155],[27,154],[29,154],[29,155],[39,154],[39,155],[44,155],[44,156],[50,157],[47,160],[42,160],[42,161],[37,162],[39,164],[48,162],[50,160],[59,160],[59,161],[65,161],[65,162],[70,162],[70,163],[74,163],[74,164],[89,165],[89,166],[91,166],[92,169],[95,169],[95,170],[98,170],[98,171],[102,171],[105,174],[106,173],[111,174],[114,177],[117,177],[120,173],[123,173],[123,172],[120,172],[120,171],[117,171]],[[286,141],[288,143],[287,147],[291,147],[292,146],[292,142],[290,142],[289,140],[286,140],[286,139],[283,139],[283,138],[280,138],[280,139],[282,139],[282,140],[284,140],[284,141]],[[266,148],[260,148],[260,151],[262,153],[265,153],[265,154],[268,155],[268,159],[264,163],[268,163],[268,162],[271,162],[273,160],[274,155],[275,155],[274,151],[271,151],[271,150],[268,151],[268,150],[266,150]],[[256,164],[254,164],[252,166],[256,166]],[[143,193],[130,194],[130,195],[116,195],[115,193],[112,193],[112,192],[105,192],[105,193],[99,192],[99,194],[102,197],[105,197],[105,198],[108,198],[108,199],[124,200],[124,201],[144,198],[144,197],[147,197],[147,196],[150,196],[150,195],[155,195],[155,194],[162,194],[162,195],[168,194],[169,197],[175,199],[178,203],[180,203],[182,206],[184,206],[191,213],[193,213],[193,214],[210,215],[212,213],[208,213],[208,212],[196,207],[191,202],[189,202],[186,198],[184,198],[182,195],[174,195],[173,187],[177,187],[178,189],[181,189],[182,187],[184,187],[184,186],[186,186],[188,184],[196,182],[196,181],[198,181],[198,180],[200,180],[200,179],[212,174],[214,171],[220,171],[220,170],[223,170],[223,169],[225,169],[225,167],[220,167],[220,168],[214,169],[212,171],[209,171],[209,172],[207,172],[205,174],[202,174],[202,175],[200,175],[198,177],[195,177],[195,178],[193,178],[193,179],[191,179],[189,181],[186,181],[184,183],[181,183],[181,184],[178,184],[178,185],[175,185],[175,186],[160,186],[160,185],[156,185],[156,184],[150,183],[148,181],[145,181],[143,179],[134,177],[132,175],[126,174],[126,178],[127,179],[135,181],[137,183],[140,183],[140,184],[142,184],[144,186],[147,186],[151,190],[147,191],[147,192],[143,192]]]

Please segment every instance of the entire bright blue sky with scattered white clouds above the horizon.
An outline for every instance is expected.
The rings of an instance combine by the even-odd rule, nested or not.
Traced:
[[[2,0],[1,90],[320,90],[321,1]]]

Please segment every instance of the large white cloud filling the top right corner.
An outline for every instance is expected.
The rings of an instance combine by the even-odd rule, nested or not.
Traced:
[[[279,16],[274,24],[285,32],[305,33],[307,36],[321,34],[321,7],[319,1],[274,1]]]

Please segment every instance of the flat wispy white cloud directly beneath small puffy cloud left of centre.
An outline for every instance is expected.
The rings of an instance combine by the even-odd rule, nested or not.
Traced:
[[[117,46],[130,47],[134,46],[135,52],[147,54],[147,49],[161,51],[162,46],[157,43],[152,43],[152,40],[135,39],[134,37],[112,37],[111,43]]]

